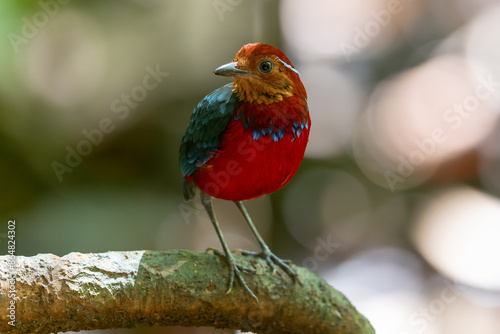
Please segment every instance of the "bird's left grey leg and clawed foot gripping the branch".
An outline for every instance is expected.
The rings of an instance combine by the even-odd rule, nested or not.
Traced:
[[[222,244],[222,248],[224,249],[224,254],[222,254],[220,251],[216,251],[214,249],[213,252],[215,255],[219,256],[224,256],[226,259],[228,265],[229,265],[229,288],[227,289],[226,293],[231,292],[231,289],[233,288],[233,281],[234,277],[243,285],[245,290],[248,292],[248,294],[255,298],[255,300],[258,301],[257,297],[255,294],[250,290],[248,287],[247,283],[241,276],[241,270],[249,270],[247,268],[241,267],[236,264],[236,261],[234,260],[233,254],[229,251],[229,247],[227,246],[226,241],[224,240],[224,236],[222,235],[222,231],[219,226],[219,222],[217,221],[217,218],[215,217],[214,209],[212,206],[212,197],[206,194],[201,195],[201,202],[203,203],[203,206],[205,207],[205,210],[208,213],[208,216],[210,217],[210,220],[212,221],[212,224],[214,225],[215,231],[217,232],[217,236],[219,237],[220,243]]]

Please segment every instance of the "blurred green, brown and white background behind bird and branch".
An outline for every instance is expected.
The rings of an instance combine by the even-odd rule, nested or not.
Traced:
[[[213,70],[250,42],[301,72],[312,118],[271,248],[377,333],[500,328],[500,2],[0,2],[0,253],[219,247],[178,148]],[[215,202],[232,248],[258,249]],[[107,333],[107,331],[99,331]],[[146,328],[112,333],[221,333]]]

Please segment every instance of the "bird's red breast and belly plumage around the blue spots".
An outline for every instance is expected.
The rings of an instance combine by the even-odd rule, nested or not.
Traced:
[[[247,128],[241,119],[233,119],[222,137],[218,152],[189,177],[189,181],[206,194],[231,201],[253,199],[285,186],[304,157],[311,122],[305,100],[301,98],[288,98],[274,103],[272,108],[270,105],[242,103],[239,109],[244,109],[243,115],[249,120],[253,114],[259,114],[259,117]],[[266,113],[259,112],[260,109],[265,109]],[[270,109],[281,112],[273,114]],[[293,122],[307,124],[299,136],[292,130]],[[274,141],[270,134],[256,140],[254,126],[284,128],[286,132],[278,141]]]

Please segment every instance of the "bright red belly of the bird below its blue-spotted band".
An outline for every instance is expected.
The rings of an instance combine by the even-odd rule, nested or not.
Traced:
[[[207,166],[191,177],[203,192],[226,200],[249,200],[280,189],[295,175],[308,129],[293,141],[293,133],[274,141],[271,135],[254,139],[250,131],[232,130]]]

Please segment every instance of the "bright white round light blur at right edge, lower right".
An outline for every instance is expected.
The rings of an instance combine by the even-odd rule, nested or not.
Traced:
[[[500,290],[500,200],[470,188],[429,199],[415,222],[414,240],[429,263],[448,277]]]

